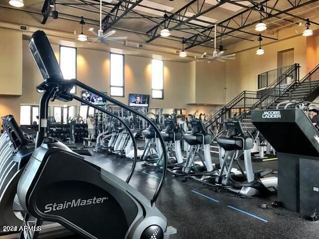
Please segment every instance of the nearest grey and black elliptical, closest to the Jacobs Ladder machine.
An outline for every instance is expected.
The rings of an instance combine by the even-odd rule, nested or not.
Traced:
[[[203,183],[210,186],[224,187],[246,197],[254,196],[263,189],[277,191],[277,177],[264,176],[273,172],[272,169],[259,170],[254,173],[251,149],[253,148],[254,137],[250,132],[245,133],[239,119],[225,119],[226,135],[217,138],[219,146],[219,161],[221,165],[218,176],[207,178]],[[245,171],[239,163],[243,151]],[[241,174],[231,171],[234,163],[237,163]]]

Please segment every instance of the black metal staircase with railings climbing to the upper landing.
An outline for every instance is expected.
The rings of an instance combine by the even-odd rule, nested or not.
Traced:
[[[299,68],[299,64],[294,64],[285,68],[286,71],[281,70],[281,75],[262,91],[242,92],[207,120],[206,128],[215,131],[216,121],[237,118],[241,119],[244,130],[253,131],[252,110],[276,109],[284,101],[314,101],[319,96],[319,65],[302,80],[299,80]],[[211,152],[218,156],[216,141],[211,144]]]

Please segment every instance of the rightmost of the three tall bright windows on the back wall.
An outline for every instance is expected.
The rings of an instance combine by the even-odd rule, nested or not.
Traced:
[[[152,98],[164,99],[164,66],[161,60],[152,60]]]

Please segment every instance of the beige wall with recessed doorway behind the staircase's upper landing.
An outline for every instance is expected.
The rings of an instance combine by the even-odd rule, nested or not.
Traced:
[[[294,48],[295,63],[299,63],[300,76],[307,74],[307,37],[296,36],[262,46],[264,55],[256,55],[257,47],[236,53],[235,60],[226,63],[226,102],[242,91],[257,90],[257,75],[277,68],[277,53]]]

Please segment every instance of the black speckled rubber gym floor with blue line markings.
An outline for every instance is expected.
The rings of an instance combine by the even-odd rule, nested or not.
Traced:
[[[132,165],[131,159],[101,153],[92,153],[86,159],[123,180]],[[217,159],[213,161],[217,162]],[[253,166],[255,170],[277,170],[277,161],[254,162]],[[161,173],[154,168],[143,167],[139,162],[130,184],[151,199],[160,177]],[[177,229],[177,234],[171,239],[319,239],[319,222],[271,207],[276,194],[242,198],[230,192],[215,191],[194,179],[185,183],[180,179],[182,177],[172,177],[167,173],[157,201],[157,207],[167,218],[168,225]],[[270,208],[260,208],[263,203]],[[103,226],[103,222],[101,224]],[[80,237],[74,235],[70,238]]]

